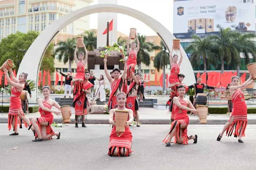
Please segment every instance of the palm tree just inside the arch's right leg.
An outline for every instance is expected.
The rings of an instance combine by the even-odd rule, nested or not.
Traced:
[[[162,41],[160,42],[160,44],[162,50],[158,52],[154,58],[154,67],[157,69],[158,72],[160,69],[163,69],[163,75],[165,76],[165,66],[170,64],[169,52],[167,52],[168,50]],[[163,77],[163,91],[165,90],[164,80],[165,78]]]

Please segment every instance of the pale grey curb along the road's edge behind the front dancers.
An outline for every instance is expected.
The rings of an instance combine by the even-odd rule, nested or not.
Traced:
[[[31,120],[33,118],[29,118]],[[70,119],[70,124],[75,123],[75,119]],[[62,120],[59,118],[54,118],[53,122],[62,123]],[[228,120],[207,120],[206,124],[200,124],[199,120],[189,120],[189,124],[200,124],[200,125],[224,125],[228,122]],[[8,123],[8,118],[0,118],[0,123]],[[88,119],[84,121],[85,124],[109,124],[108,119]],[[166,119],[141,119],[141,124],[170,124],[170,120]],[[248,125],[256,124],[256,119],[248,120]]]

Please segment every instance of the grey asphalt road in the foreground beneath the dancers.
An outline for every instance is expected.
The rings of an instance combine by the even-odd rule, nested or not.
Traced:
[[[53,128],[61,132],[60,140],[32,142],[32,132],[19,129],[20,135],[9,136],[6,124],[0,124],[1,169],[106,169],[106,170],[252,170],[255,169],[254,125],[248,125],[244,143],[237,138],[216,138],[223,126],[189,125],[188,135],[197,134],[198,143],[172,144],[165,147],[162,142],[168,133],[167,125],[142,125],[131,127],[131,157],[109,157],[109,125],[88,125],[75,128],[73,125]],[[18,147],[16,150],[12,150]]]

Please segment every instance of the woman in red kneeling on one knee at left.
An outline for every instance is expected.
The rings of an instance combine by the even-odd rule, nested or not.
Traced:
[[[57,139],[60,139],[60,132],[54,132],[51,127],[53,122],[52,113],[56,114],[57,116],[61,115],[61,112],[52,110],[52,106],[60,110],[60,105],[55,100],[50,99],[50,87],[45,85],[42,90],[44,98],[37,100],[39,105],[38,111],[40,112],[41,117],[33,118],[31,120],[31,126],[33,125],[36,130],[36,139],[32,140],[33,142],[40,142],[49,139],[54,135],[57,136]],[[69,111],[69,115],[72,115],[71,111]]]

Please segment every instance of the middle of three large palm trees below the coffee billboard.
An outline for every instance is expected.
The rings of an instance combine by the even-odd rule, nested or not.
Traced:
[[[222,74],[224,72],[224,61],[230,64],[233,56],[238,54],[232,41],[236,31],[231,31],[230,28],[224,29],[219,24],[217,27],[220,29],[220,35],[210,35],[209,38],[214,43],[211,50],[221,62],[220,71]]]

